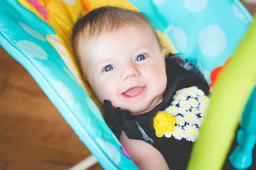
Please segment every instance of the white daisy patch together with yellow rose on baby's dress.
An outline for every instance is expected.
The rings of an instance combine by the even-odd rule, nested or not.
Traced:
[[[196,86],[178,90],[171,105],[154,117],[156,136],[195,142],[209,104],[209,97]],[[175,121],[172,120],[175,118]]]

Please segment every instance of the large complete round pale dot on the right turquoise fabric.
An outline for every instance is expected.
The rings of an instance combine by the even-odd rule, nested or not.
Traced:
[[[210,25],[200,32],[198,44],[202,53],[209,57],[220,55],[225,50],[227,39],[222,29]]]

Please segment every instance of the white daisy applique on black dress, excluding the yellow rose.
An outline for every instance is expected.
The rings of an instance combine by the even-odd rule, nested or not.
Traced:
[[[196,86],[180,89],[175,92],[171,105],[164,112],[175,118],[175,129],[165,133],[166,138],[195,142],[198,138],[199,127],[204,123],[209,97]],[[161,111],[163,112],[163,111]]]

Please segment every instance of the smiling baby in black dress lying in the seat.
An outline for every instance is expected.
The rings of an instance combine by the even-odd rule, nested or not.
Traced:
[[[168,55],[137,11],[102,7],[73,28],[84,80],[106,123],[139,169],[186,169],[209,87],[192,64]]]

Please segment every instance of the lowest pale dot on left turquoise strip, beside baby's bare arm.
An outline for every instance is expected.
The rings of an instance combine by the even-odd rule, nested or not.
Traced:
[[[118,165],[121,160],[121,154],[118,149],[112,143],[105,141],[102,138],[96,138],[95,141],[100,145],[102,150],[108,155],[108,157],[114,162],[114,164]]]

